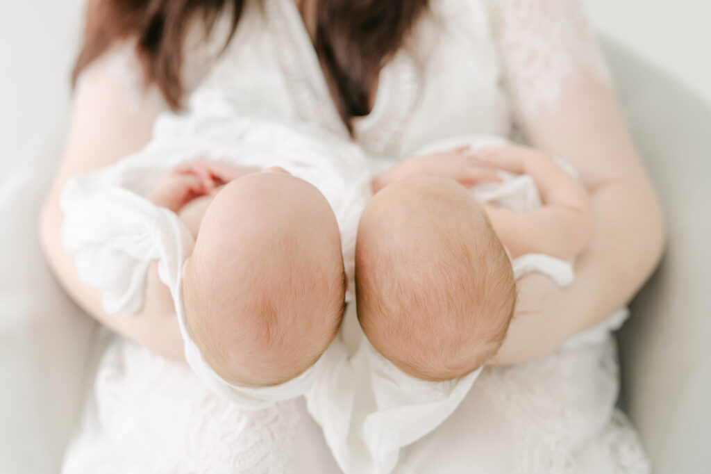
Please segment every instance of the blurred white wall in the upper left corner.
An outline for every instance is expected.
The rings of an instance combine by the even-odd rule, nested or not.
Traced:
[[[40,148],[65,118],[83,4],[0,0],[2,173]]]

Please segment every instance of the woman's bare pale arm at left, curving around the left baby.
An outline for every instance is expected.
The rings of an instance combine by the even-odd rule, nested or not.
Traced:
[[[65,181],[105,167],[144,147],[153,122],[167,105],[155,86],[145,87],[132,47],[107,53],[90,65],[77,83],[63,157],[41,211],[43,251],[65,290],[90,315],[152,351],[183,358],[183,344],[168,289],[156,265],[147,278],[146,302],[134,315],[107,314],[99,290],[80,282],[74,260],[60,244],[63,214],[58,202]]]

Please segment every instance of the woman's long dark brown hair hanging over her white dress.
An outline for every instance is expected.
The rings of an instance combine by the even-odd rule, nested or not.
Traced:
[[[117,41],[135,38],[146,84],[155,83],[177,110],[183,99],[183,42],[191,21],[199,16],[209,34],[220,13],[231,6],[231,38],[244,1],[90,0],[73,79]],[[338,112],[348,125],[351,117],[368,113],[380,68],[402,46],[428,0],[314,1],[318,2],[316,52]]]

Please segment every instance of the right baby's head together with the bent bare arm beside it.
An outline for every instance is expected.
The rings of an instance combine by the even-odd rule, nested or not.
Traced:
[[[520,156],[459,149],[420,158],[405,179],[381,177],[384,187],[358,228],[358,319],[373,347],[407,374],[443,381],[481,367],[501,347],[513,316],[511,258],[569,259],[587,244],[592,226],[584,186],[545,154]],[[466,175],[451,174],[451,160],[479,170],[466,181],[470,186],[498,181],[491,171],[528,174],[542,206],[518,213],[483,205],[441,177]],[[416,176],[422,173],[434,176]]]

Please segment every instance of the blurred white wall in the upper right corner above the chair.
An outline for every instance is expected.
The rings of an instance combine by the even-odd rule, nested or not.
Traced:
[[[711,1],[582,2],[599,32],[658,65],[711,104]]]

